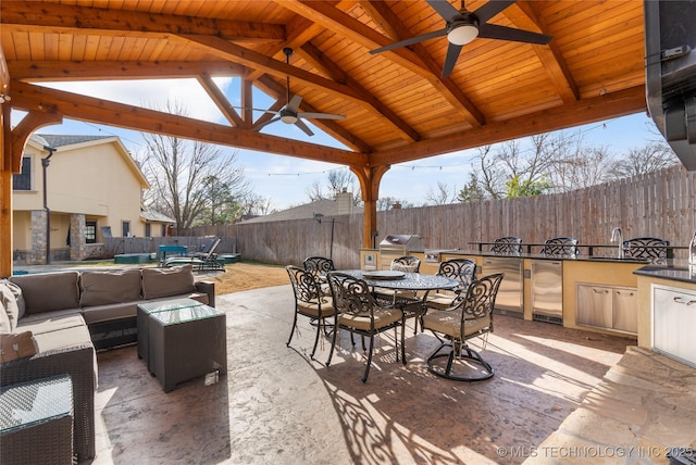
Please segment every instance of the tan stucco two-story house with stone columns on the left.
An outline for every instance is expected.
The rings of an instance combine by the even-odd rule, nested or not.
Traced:
[[[14,260],[46,263],[47,244],[51,260],[100,257],[104,237],[164,236],[173,221],[141,209],[149,187],[117,137],[32,136],[13,175]]]

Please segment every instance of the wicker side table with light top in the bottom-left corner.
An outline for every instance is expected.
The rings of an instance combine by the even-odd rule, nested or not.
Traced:
[[[73,384],[67,375],[0,392],[0,463],[73,463]]]

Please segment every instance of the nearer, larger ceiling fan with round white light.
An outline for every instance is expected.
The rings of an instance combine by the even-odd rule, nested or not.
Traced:
[[[386,50],[410,46],[423,40],[447,36],[449,46],[447,47],[447,56],[445,58],[445,65],[443,66],[443,77],[447,77],[451,74],[452,68],[459,59],[461,48],[474,40],[476,37],[538,45],[546,45],[551,40],[550,36],[546,36],[544,34],[486,23],[486,21],[514,3],[514,0],[490,0],[474,12],[467,10],[467,7],[464,7],[464,0],[461,0],[461,8],[459,11],[455,10],[447,0],[426,1],[427,4],[430,4],[433,10],[435,10],[440,16],[443,16],[443,20],[446,21],[447,24],[443,29],[411,37],[410,39],[401,40],[399,42],[391,43],[390,46],[371,50],[370,53],[380,53]]]

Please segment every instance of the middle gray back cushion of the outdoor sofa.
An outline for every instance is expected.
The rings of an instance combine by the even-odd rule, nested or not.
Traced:
[[[83,272],[79,305],[108,305],[142,299],[140,269]]]

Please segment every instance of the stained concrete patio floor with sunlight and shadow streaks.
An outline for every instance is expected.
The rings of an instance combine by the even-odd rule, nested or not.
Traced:
[[[688,445],[689,437],[696,441],[696,370],[666,367],[667,359],[631,349],[634,340],[496,315],[482,352],[496,376],[465,384],[430,374],[424,359],[436,339],[413,336],[409,327],[408,364],[396,363],[393,332],[384,335],[363,384],[365,356],[347,337],[330,367],[328,340],[320,342],[315,361],[309,359],[314,328],[307,318],[286,347],[293,299],[289,286],[217,297],[217,309],[227,313],[228,373],[210,386],[199,378],[164,393],[135,347],[99,353],[94,463],[567,463],[552,453],[542,458],[539,447],[558,453],[573,444],[601,444],[601,438],[622,447],[627,436],[639,439],[641,422],[669,430],[644,405],[650,395],[639,395],[650,388],[659,392],[667,386],[662,376],[672,391],[663,393],[658,410],[673,406],[679,415],[673,445]],[[638,382],[656,367],[662,368],[655,382]],[[586,397],[591,409],[577,410]],[[582,417],[569,418],[575,410]],[[668,463],[663,454],[652,455],[639,463]],[[576,460],[588,462],[597,461]],[[605,462],[634,463],[618,456]]]

